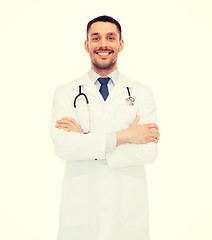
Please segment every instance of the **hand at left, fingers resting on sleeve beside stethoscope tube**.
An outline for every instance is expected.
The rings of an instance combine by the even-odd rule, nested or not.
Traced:
[[[56,123],[56,128],[63,129],[67,132],[83,133],[80,125],[76,122],[74,118],[64,117],[61,118],[61,120],[57,120]]]

